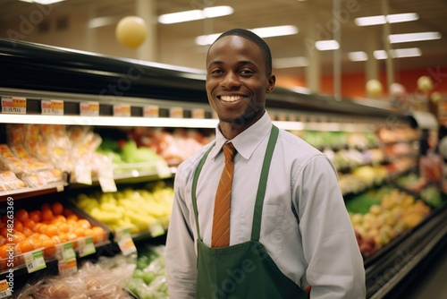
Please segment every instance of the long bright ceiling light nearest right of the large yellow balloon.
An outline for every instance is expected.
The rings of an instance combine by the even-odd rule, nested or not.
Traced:
[[[206,18],[222,17],[224,15],[232,14],[234,10],[231,6],[221,5],[214,7],[207,7],[204,10],[195,9],[192,11],[185,11],[179,13],[166,13],[158,17],[158,22],[162,24],[180,23],[182,21],[197,21]]]

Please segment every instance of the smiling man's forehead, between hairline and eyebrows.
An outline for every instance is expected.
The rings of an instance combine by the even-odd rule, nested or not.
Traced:
[[[250,60],[262,59],[261,49],[256,43],[237,35],[226,36],[215,41],[209,48],[207,61],[234,58],[236,55],[250,57]]]

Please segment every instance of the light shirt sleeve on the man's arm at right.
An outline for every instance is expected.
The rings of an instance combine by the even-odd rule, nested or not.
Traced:
[[[310,158],[297,182],[310,298],[365,298],[365,268],[333,164]]]

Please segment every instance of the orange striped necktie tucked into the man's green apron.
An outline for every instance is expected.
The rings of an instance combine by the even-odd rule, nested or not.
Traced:
[[[225,166],[223,167],[219,186],[215,192],[215,214],[213,217],[213,232],[211,247],[224,247],[230,244],[230,206],[232,203],[232,174],[234,164],[232,158],[236,149],[232,143],[223,145]]]

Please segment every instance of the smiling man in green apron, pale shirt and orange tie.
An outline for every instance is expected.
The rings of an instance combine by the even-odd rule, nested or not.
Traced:
[[[272,124],[274,83],[270,49],[251,31],[228,30],[209,48],[207,97],[219,124],[175,176],[171,298],[365,298],[336,171]]]

